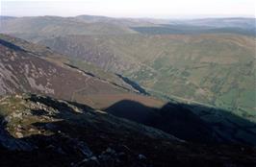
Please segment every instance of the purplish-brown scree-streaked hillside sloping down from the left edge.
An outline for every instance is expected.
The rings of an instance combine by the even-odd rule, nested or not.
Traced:
[[[0,39],[1,95],[35,92],[97,108],[109,107],[124,99],[136,99],[144,103],[148,101],[153,106],[163,104],[136,94],[136,89],[120,79],[119,83],[122,84],[101,79],[95,74],[64,64],[58,60],[63,58],[60,54],[21,41],[3,35]],[[108,97],[108,100],[102,100],[102,96]]]

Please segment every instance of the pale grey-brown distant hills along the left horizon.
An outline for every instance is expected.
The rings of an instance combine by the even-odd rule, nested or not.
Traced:
[[[77,18],[58,16],[18,17],[2,21],[1,33],[19,35],[37,41],[64,35],[114,35],[136,33],[125,26],[109,22],[86,23]]]

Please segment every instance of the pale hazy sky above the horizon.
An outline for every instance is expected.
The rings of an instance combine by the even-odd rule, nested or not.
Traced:
[[[254,16],[256,0],[0,0],[1,15]]]

